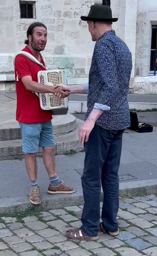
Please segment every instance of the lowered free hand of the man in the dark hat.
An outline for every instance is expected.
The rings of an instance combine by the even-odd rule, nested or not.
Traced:
[[[93,130],[95,125],[94,120],[87,119],[82,126],[80,126],[79,129],[79,142],[84,143],[88,142],[90,132]]]

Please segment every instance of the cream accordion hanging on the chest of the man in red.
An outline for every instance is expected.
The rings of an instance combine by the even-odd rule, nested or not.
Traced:
[[[59,83],[67,85],[67,74],[64,70],[43,70],[38,72],[38,83],[56,86]],[[39,93],[40,107],[52,110],[53,115],[67,114],[68,97],[58,98],[53,93]]]

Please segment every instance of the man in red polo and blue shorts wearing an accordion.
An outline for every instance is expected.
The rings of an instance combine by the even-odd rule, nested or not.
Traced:
[[[45,70],[40,51],[47,42],[47,29],[42,23],[36,22],[27,30],[27,45],[22,51],[32,54],[38,62],[33,62],[27,56],[18,54],[15,57],[15,85],[17,94],[16,120],[22,133],[22,148],[25,153],[26,170],[31,181],[29,201],[40,204],[40,188],[37,182],[36,153],[42,147],[42,158],[50,178],[49,194],[74,193],[75,189],[67,186],[56,174],[54,158],[54,136],[52,131],[52,111],[40,108],[36,93],[54,93],[59,97],[67,97],[69,89],[65,87],[42,85],[37,81],[37,73]]]

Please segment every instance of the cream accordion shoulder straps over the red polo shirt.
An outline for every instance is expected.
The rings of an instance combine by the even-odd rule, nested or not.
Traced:
[[[14,67],[15,67],[15,58],[17,57],[17,55],[21,55],[21,54],[24,55],[25,57],[29,58],[30,60],[32,60],[32,61],[35,62],[36,64],[40,65],[40,66],[41,66],[42,68],[44,68],[45,70],[48,70],[47,67],[46,67],[45,57],[44,57],[44,55],[42,54],[42,52],[40,52],[40,56],[41,56],[41,58],[42,58],[42,60],[43,60],[45,66],[44,66],[40,61],[38,61],[31,53],[25,52],[25,51],[23,51],[23,50],[21,50],[21,51],[19,51],[19,52],[17,52],[17,53],[15,54],[15,56],[14,56],[14,58],[13,58],[13,65],[14,65]],[[16,69],[16,67],[15,67],[15,69]],[[18,75],[18,74],[17,74],[17,75]],[[33,93],[35,93],[36,96],[39,97],[38,93],[36,93],[36,92],[33,92]]]

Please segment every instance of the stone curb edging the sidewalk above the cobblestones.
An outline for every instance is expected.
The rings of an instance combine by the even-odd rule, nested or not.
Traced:
[[[157,193],[157,178],[152,180],[140,180],[133,182],[121,182],[119,196],[142,196],[146,194]],[[103,193],[101,192],[101,200],[103,200]],[[83,204],[82,189],[75,192],[75,194],[58,194],[49,195],[42,194],[42,204],[40,206],[33,206],[29,203],[27,196],[16,198],[0,199],[0,214],[12,214],[28,209],[38,209],[40,211],[48,211],[52,209],[61,209],[68,206],[79,206]]]

